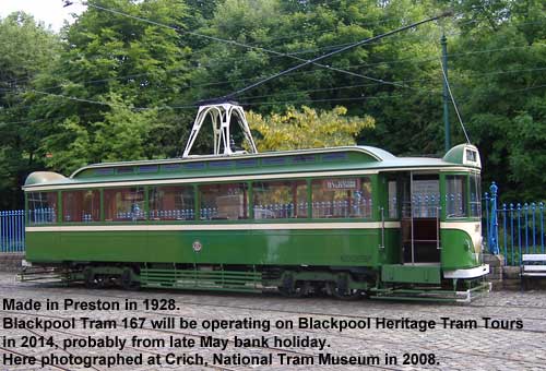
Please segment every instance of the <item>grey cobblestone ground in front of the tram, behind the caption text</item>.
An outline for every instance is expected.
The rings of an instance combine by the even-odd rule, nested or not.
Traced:
[[[35,299],[45,302],[47,299],[62,301],[64,298],[74,300],[96,301],[97,299],[108,301],[119,301],[123,303],[127,298],[142,301],[145,298],[175,299],[178,310],[175,311],[145,311],[139,309],[134,312],[127,311],[39,311],[22,312],[5,311],[1,316],[17,315],[19,318],[80,318],[91,316],[93,319],[116,320],[120,323],[124,318],[139,316],[146,319],[159,319],[164,316],[182,316],[197,321],[222,319],[241,320],[252,318],[254,320],[293,320],[297,323],[298,318],[313,316],[325,320],[329,318],[345,320],[364,320],[367,318],[388,318],[412,320],[434,320],[440,323],[440,318],[449,316],[453,320],[477,320],[478,328],[435,328],[427,332],[416,330],[292,330],[289,332],[272,328],[270,332],[257,330],[219,330],[214,334],[203,328],[194,330],[151,330],[149,326],[139,330],[84,330],[81,323],[76,328],[68,331],[50,331],[49,335],[55,336],[56,344],[61,344],[64,338],[87,337],[95,338],[106,335],[117,335],[120,338],[130,339],[138,335],[144,338],[168,338],[188,337],[199,339],[201,335],[214,335],[222,338],[260,337],[272,338],[278,335],[283,338],[292,336],[313,338],[324,338],[328,348],[324,351],[335,355],[366,355],[379,356],[380,364],[377,366],[288,366],[280,364],[277,359],[271,366],[163,366],[163,367],[114,367],[111,370],[545,370],[546,369],[546,291],[498,291],[491,292],[487,297],[478,299],[471,304],[453,306],[438,303],[414,303],[414,302],[391,302],[376,300],[339,301],[330,298],[305,298],[286,299],[275,294],[265,295],[239,295],[239,294],[212,294],[193,291],[122,291],[117,289],[88,290],[82,286],[59,287],[48,284],[16,283],[12,274],[0,274],[0,297],[14,298],[20,300]],[[483,318],[496,320],[521,320],[521,330],[491,330],[483,327]],[[43,334],[40,331],[33,331]],[[2,330],[1,336],[7,336],[20,342],[23,336],[32,335],[28,330]],[[236,348],[232,342],[225,350],[225,355],[241,354],[270,355],[283,352],[283,347],[275,348]],[[312,356],[318,357],[320,350],[304,347],[289,347],[288,356]],[[52,351],[48,347],[11,348],[11,350],[23,355],[39,356],[44,352]],[[188,350],[188,349],[186,349]],[[62,350],[55,350],[60,355],[67,355]],[[127,346],[123,355],[143,354],[165,355],[168,352],[182,354],[185,349],[173,349],[169,347],[131,347]],[[198,348],[193,352],[199,352],[204,359],[212,359],[213,352],[217,349]],[[5,347],[0,347],[0,356],[7,352]],[[116,349],[90,349],[71,348],[73,355],[115,355]],[[396,356],[397,364],[385,364],[384,355]],[[429,355],[434,354],[438,364],[412,366],[402,364],[403,354]],[[0,364],[0,370],[5,368]],[[82,370],[83,367],[46,368],[47,370]],[[10,366],[7,370],[41,370],[40,367],[33,366]],[[106,370],[105,367],[95,367],[91,370]]]

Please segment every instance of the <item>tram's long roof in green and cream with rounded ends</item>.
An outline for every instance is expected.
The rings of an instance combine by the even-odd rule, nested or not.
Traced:
[[[475,151],[477,161],[465,160],[467,149]],[[189,158],[102,163],[84,166],[70,177],[49,171],[31,173],[23,189],[185,178],[254,176],[265,173],[321,171],[393,171],[404,169],[479,168],[477,148],[461,144],[443,158],[396,157],[372,146],[344,146],[298,151],[266,152],[233,156],[194,156]]]

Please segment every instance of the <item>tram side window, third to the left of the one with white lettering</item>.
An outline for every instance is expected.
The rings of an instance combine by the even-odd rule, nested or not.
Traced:
[[[192,220],[195,217],[193,202],[192,187],[154,187],[150,190],[150,218]]]

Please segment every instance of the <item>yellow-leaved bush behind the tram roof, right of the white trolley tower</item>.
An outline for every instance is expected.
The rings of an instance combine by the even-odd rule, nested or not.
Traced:
[[[320,148],[355,145],[355,137],[363,129],[373,128],[373,119],[345,117],[345,107],[330,111],[319,111],[302,106],[301,111],[288,107],[285,113],[274,113],[263,118],[250,111],[250,129],[260,137],[256,140],[259,151],[280,151],[296,148]]]

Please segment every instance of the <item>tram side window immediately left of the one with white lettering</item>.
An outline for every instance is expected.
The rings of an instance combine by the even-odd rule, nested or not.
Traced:
[[[305,180],[252,183],[254,219],[307,217]]]

